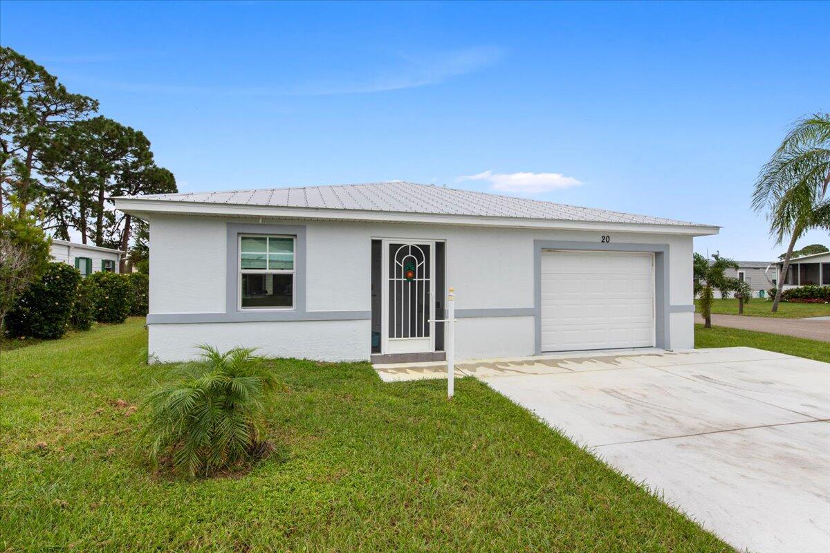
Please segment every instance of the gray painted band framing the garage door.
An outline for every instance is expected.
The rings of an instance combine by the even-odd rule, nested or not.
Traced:
[[[630,251],[654,254],[654,340],[655,346],[671,349],[669,329],[669,245],[603,242],[575,242],[569,240],[534,240],[534,306],[536,355],[542,353],[542,252],[565,251]]]

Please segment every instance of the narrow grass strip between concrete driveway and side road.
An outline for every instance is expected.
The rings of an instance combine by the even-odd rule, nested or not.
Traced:
[[[792,336],[754,332],[740,328],[695,325],[695,347],[757,347],[769,352],[786,353],[830,363],[830,342],[818,342]]]

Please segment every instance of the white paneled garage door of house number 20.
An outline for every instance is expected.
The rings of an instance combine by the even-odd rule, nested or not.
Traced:
[[[654,345],[654,255],[542,252],[542,351]]]

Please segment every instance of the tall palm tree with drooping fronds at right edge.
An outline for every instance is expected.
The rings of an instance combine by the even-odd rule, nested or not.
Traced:
[[[830,114],[799,119],[755,182],[752,207],[767,211],[769,234],[781,244],[789,236],[781,275],[789,270],[796,241],[811,229],[830,229]],[[783,280],[780,279],[780,280]],[[778,311],[783,282],[773,300]]]

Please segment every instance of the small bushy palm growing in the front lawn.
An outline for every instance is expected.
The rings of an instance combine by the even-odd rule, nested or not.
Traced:
[[[189,478],[270,449],[261,441],[261,422],[266,399],[276,388],[275,377],[252,349],[199,348],[201,361],[176,366],[170,381],[144,401],[149,424],[143,441],[150,459],[158,464],[164,458]]]

